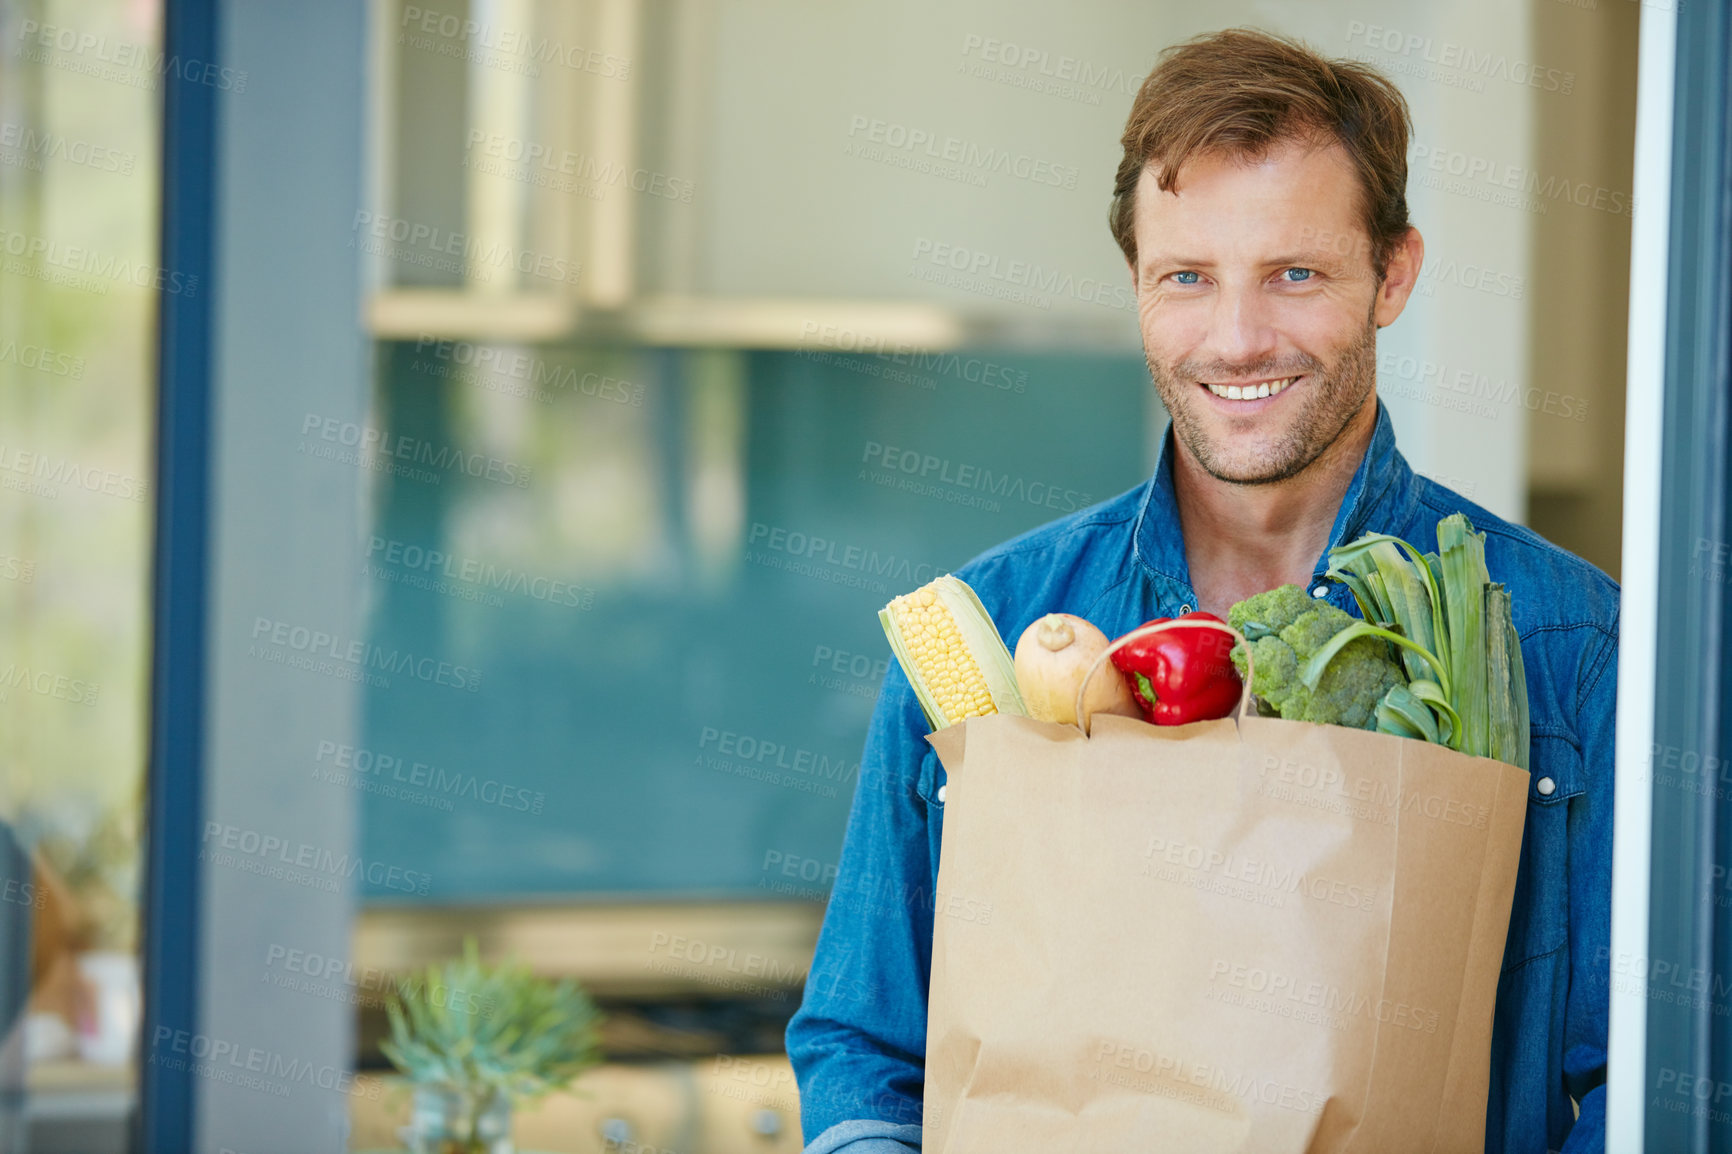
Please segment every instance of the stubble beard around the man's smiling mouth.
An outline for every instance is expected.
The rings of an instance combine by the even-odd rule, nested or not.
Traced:
[[[1147,352],[1147,345],[1143,357],[1155,390],[1173,418],[1174,437],[1209,477],[1235,485],[1273,485],[1309,468],[1341,440],[1347,425],[1365,407],[1377,386],[1377,324],[1367,317],[1365,329],[1341,350],[1334,364],[1299,353],[1245,366],[1179,360],[1164,369]],[[1207,402],[1200,395],[1199,381],[1280,379],[1299,374],[1306,379],[1292,397],[1297,407],[1273,444],[1257,445],[1249,452],[1230,452],[1205,431],[1199,414]]]

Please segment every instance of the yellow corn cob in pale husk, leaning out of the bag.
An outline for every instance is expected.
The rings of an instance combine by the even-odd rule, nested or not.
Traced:
[[[892,600],[878,620],[934,729],[1027,714],[1010,650],[968,582],[946,574]]]

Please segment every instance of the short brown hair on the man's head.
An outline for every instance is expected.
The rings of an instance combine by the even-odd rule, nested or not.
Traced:
[[[1171,192],[1192,156],[1221,152],[1261,159],[1285,140],[1339,142],[1360,175],[1360,211],[1379,279],[1408,230],[1406,100],[1382,73],[1327,61],[1297,40],[1228,28],[1160,54],[1131,104],[1124,159],[1107,220],[1136,267],[1136,182],[1155,165]]]

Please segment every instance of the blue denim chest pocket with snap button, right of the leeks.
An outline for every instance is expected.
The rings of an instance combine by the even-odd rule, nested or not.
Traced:
[[[1569,736],[1535,733],[1529,757],[1528,820],[1503,946],[1505,974],[1569,941],[1569,799],[1587,788],[1581,750]]]

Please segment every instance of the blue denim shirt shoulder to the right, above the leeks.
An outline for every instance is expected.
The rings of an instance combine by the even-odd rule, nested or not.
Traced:
[[[1427,477],[1415,475],[1415,489],[1425,523],[1465,513],[1486,535],[1486,568],[1493,580],[1509,586],[1516,626],[1524,636],[1588,627],[1616,639],[1618,582],[1604,570]],[[1434,539],[1425,544],[1434,546]]]

